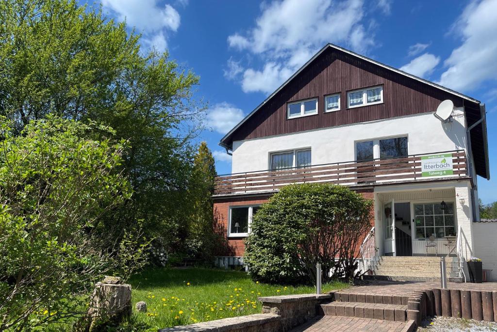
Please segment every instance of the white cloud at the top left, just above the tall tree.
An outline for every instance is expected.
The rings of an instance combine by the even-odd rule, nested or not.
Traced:
[[[167,31],[177,31],[179,13],[171,5],[161,6],[158,0],[102,0],[118,20],[124,21],[144,36],[145,44],[158,51],[167,48]]]

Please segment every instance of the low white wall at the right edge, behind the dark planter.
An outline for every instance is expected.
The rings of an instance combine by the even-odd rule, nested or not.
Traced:
[[[492,270],[492,280],[497,281],[497,222],[473,223],[475,239],[475,257],[483,262],[483,268]]]

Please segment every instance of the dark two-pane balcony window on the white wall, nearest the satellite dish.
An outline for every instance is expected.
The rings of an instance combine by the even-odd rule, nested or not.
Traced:
[[[407,136],[355,142],[355,160],[358,162],[373,159],[404,158],[408,154]]]

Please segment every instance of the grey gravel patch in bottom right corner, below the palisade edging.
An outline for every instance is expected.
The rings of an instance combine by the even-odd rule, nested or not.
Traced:
[[[417,329],[419,332],[497,332],[497,323],[480,322],[452,317],[427,317]]]

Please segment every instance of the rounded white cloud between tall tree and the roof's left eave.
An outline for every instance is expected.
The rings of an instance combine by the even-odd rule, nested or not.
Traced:
[[[206,125],[218,133],[225,134],[232,130],[244,117],[244,111],[223,102],[207,110]]]

